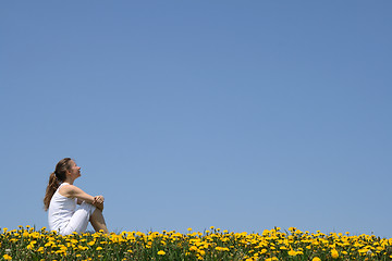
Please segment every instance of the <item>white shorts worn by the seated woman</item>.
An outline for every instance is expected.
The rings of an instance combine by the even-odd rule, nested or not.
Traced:
[[[84,233],[87,229],[89,217],[95,210],[95,206],[83,201],[82,204],[76,209],[75,213],[72,215],[66,226],[60,229],[60,234],[66,236],[73,232]]]

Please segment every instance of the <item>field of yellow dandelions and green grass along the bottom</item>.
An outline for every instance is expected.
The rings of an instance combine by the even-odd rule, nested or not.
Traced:
[[[58,235],[45,227],[0,228],[0,260],[392,260],[392,238],[301,232],[209,231]]]

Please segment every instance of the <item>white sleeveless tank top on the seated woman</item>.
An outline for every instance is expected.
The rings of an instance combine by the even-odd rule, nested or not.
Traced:
[[[76,209],[76,198],[72,199],[59,194],[59,189],[64,185],[70,184],[62,183],[53,194],[49,203],[48,223],[50,231],[62,231],[70,222]]]

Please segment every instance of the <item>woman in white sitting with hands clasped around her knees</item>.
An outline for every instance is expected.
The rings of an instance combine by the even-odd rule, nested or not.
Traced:
[[[102,229],[108,234],[102,215],[103,197],[93,197],[74,186],[79,176],[81,167],[70,158],[59,161],[50,174],[44,198],[45,210],[49,210],[49,228],[61,235],[84,233],[90,222],[96,232]],[[79,207],[76,208],[76,204]]]

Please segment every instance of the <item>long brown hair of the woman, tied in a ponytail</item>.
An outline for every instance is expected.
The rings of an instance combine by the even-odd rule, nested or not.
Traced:
[[[56,190],[60,187],[60,184],[65,181],[65,173],[70,170],[72,161],[71,158],[64,158],[56,165],[56,171],[52,172],[49,176],[49,183],[45,192],[44,198],[44,209],[47,211],[49,209],[49,203],[53,197]]]

